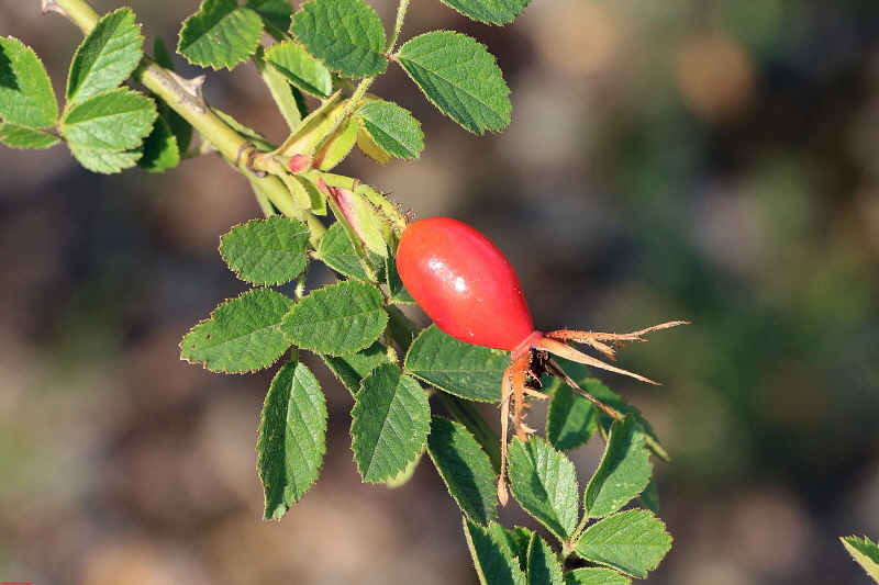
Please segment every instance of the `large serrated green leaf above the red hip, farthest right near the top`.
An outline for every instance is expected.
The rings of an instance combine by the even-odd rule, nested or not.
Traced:
[[[434,105],[476,134],[510,123],[510,88],[485,45],[471,37],[434,31],[402,47],[397,60]]]

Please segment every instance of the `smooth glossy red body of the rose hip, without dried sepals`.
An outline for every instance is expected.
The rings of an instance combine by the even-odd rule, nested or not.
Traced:
[[[534,334],[512,265],[463,222],[431,217],[407,226],[397,270],[412,299],[456,339],[512,351]]]

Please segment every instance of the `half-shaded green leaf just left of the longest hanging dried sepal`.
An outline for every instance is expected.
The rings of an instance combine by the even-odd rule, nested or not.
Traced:
[[[498,517],[497,474],[488,455],[464,425],[434,416],[427,453],[467,518],[481,526]]]

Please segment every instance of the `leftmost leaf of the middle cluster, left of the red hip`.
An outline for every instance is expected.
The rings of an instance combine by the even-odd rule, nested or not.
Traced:
[[[278,329],[291,299],[271,289],[253,289],[218,306],[180,344],[180,356],[214,372],[268,368],[290,347]]]

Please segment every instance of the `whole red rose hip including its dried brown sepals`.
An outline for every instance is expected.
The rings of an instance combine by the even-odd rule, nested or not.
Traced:
[[[571,344],[586,345],[613,360],[615,349],[626,342],[646,341],[644,335],[648,333],[688,324],[672,320],[627,334],[535,330],[522,285],[510,261],[480,232],[450,217],[431,217],[409,224],[397,248],[397,270],[409,294],[441,330],[467,344],[511,352],[501,391],[501,473],[498,480],[501,504],[507,504],[509,498],[505,483],[509,426],[512,423],[522,440],[534,432],[524,423],[524,398],[525,395],[547,397],[533,390],[544,372],[561,378],[613,418],[621,418],[620,413],[579,387],[550,353],[656,384],[583,353]]]

